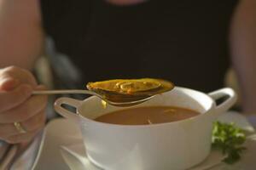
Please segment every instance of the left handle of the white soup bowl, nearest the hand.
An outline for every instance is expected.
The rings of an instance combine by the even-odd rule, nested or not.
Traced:
[[[65,109],[64,107],[62,107],[62,105],[70,105],[74,108],[78,108],[79,105],[81,105],[80,100],[78,99],[72,99],[72,98],[67,98],[67,97],[62,97],[59,99],[55,100],[55,111],[57,113],[59,113],[61,116],[64,116],[68,119],[72,119],[72,120],[79,120],[79,113],[73,113],[72,111],[68,111],[67,109]]]

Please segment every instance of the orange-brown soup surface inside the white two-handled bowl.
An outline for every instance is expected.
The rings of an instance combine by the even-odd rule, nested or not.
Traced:
[[[122,125],[145,125],[163,122],[175,122],[197,116],[200,113],[189,109],[172,106],[144,106],[113,111],[97,117],[97,122]]]

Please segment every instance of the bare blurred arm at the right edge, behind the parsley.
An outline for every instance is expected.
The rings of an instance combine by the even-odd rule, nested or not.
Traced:
[[[256,1],[241,0],[230,32],[233,66],[241,87],[243,112],[256,115]]]

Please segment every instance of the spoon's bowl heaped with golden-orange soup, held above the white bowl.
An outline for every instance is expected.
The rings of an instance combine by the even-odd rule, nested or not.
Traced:
[[[102,82],[89,82],[87,88],[104,99],[113,102],[129,102],[146,99],[155,94],[172,90],[174,84],[162,79],[115,79]]]

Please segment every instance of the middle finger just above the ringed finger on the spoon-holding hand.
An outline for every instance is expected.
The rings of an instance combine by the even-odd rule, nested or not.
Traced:
[[[46,95],[35,95],[8,111],[0,113],[0,123],[24,122],[44,110],[47,105]]]

